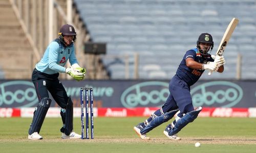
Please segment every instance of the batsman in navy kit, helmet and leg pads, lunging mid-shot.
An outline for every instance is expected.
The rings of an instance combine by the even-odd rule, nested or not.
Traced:
[[[177,134],[188,123],[193,122],[202,107],[194,108],[190,95],[190,86],[195,84],[205,70],[222,73],[225,59],[223,56],[210,55],[214,41],[209,33],[202,33],[197,41],[197,48],[188,50],[181,60],[176,74],[169,82],[169,96],[159,110],[154,112],[144,122],[134,126],[135,132],[141,139],[149,140],[146,133],[160,124],[172,119],[163,134],[171,140],[181,140]],[[208,53],[209,52],[209,53]]]

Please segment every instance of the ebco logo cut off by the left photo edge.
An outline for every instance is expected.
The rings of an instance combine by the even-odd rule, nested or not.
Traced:
[[[15,103],[15,107],[29,107],[37,102],[32,82],[8,81],[0,84],[0,106],[8,106]]]

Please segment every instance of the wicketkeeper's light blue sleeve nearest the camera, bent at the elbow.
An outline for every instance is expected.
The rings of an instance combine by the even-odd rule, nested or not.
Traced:
[[[66,68],[57,64],[58,52],[59,44],[56,41],[51,42],[49,45],[49,68],[57,72],[65,73]]]

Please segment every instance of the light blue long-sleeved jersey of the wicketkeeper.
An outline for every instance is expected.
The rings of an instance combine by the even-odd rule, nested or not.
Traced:
[[[66,47],[59,39],[55,39],[49,44],[44,56],[35,65],[35,68],[46,74],[65,73],[66,68],[64,66],[68,59],[71,65],[78,63],[74,44]]]

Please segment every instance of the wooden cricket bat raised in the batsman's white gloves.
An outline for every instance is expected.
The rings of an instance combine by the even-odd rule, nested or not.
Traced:
[[[238,20],[237,18],[233,18],[233,19],[230,21],[230,23],[229,23],[229,25],[227,26],[227,29],[226,29],[226,31],[225,31],[225,33],[224,33],[222,39],[221,39],[221,43],[220,43],[220,45],[219,45],[219,47],[218,47],[216,56],[222,56],[222,55],[223,55],[224,50],[225,50],[225,48],[226,48],[226,46],[227,46],[227,43],[228,43],[228,41],[229,41],[229,39],[230,39],[230,37],[231,37],[233,31],[234,31],[234,28],[236,28],[236,26],[238,25],[238,22],[239,22],[239,20]],[[208,73],[208,75],[211,75],[211,73],[212,73],[212,71],[210,71],[210,72]]]

